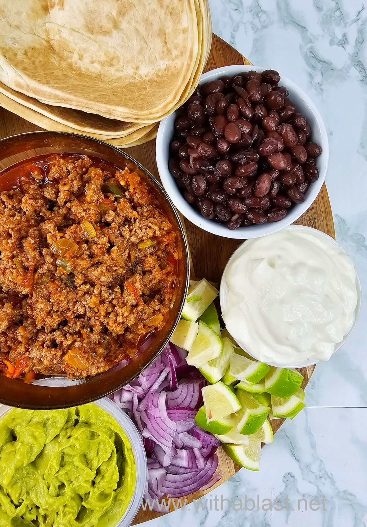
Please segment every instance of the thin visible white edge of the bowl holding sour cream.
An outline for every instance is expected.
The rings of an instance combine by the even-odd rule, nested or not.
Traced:
[[[305,230],[305,231],[312,231],[313,233],[317,233],[318,236],[321,236],[323,238],[326,238],[327,240],[329,240],[330,242],[333,243],[333,245],[335,245],[335,247],[337,247],[340,251],[344,252],[344,254],[347,255],[347,252],[345,252],[345,250],[343,249],[343,247],[341,247],[339,245],[339,243],[337,243],[334,238],[332,238],[331,236],[325,234],[325,232],[322,232],[322,231],[319,231],[317,229],[313,229],[312,227],[306,227],[306,226],[303,226],[303,225],[291,225],[291,226],[288,226],[288,229],[295,229],[295,230],[298,230],[298,231],[302,231],[302,230]],[[223,275],[222,275],[222,278],[221,278],[221,281],[220,281],[220,289],[219,289],[219,298],[220,298],[220,309],[221,309],[221,312],[223,313],[224,312],[224,308],[225,308],[225,305],[226,305],[226,300],[227,300],[227,292],[228,292],[228,287],[227,287],[227,284],[226,284],[226,270],[228,268],[228,266],[239,256],[239,254],[244,250],[245,247],[247,247],[247,245],[250,243],[251,240],[247,240],[247,241],[244,241],[243,243],[241,243],[241,245],[239,247],[237,247],[237,249],[235,250],[235,252],[233,253],[233,255],[231,255],[231,257],[229,258],[228,262],[227,262],[227,265],[223,271]],[[348,255],[349,256],[349,255]],[[353,333],[353,330],[357,324],[357,321],[358,321],[358,317],[359,317],[359,314],[360,314],[360,311],[361,311],[361,299],[362,299],[362,294],[361,294],[361,282],[360,282],[360,279],[359,279],[359,276],[358,274],[356,273],[355,274],[355,286],[356,286],[356,290],[357,290],[357,305],[355,307],[355,311],[354,311],[354,322],[353,322],[353,325],[351,327],[351,329],[348,331],[348,333],[346,335],[344,335],[344,338],[343,340],[337,344],[335,346],[335,349],[334,349],[334,352],[333,354],[339,349],[341,348],[342,346],[344,346],[344,344],[346,343],[347,339],[349,339],[349,337],[352,335]],[[238,342],[238,345],[245,350],[246,353],[248,353],[248,355],[254,357],[255,359],[257,359],[257,357],[250,353],[248,351],[248,349],[244,346],[243,343],[240,343]],[[312,366],[314,364],[316,364],[317,362],[320,362],[318,360],[306,360],[302,363],[294,363],[294,364],[277,364],[277,363],[267,363],[269,366],[275,366],[276,368],[304,368],[306,366]]]

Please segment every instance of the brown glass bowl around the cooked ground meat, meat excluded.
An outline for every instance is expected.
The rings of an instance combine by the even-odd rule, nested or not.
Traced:
[[[32,384],[0,375],[0,403],[9,406],[43,410],[67,408],[89,403],[115,392],[147,368],[166,346],[180,319],[186,298],[189,283],[189,256],[181,220],[166,191],[130,155],[103,141],[85,135],[64,132],[30,132],[0,141],[0,171],[36,155],[68,152],[92,155],[109,161],[122,170],[128,168],[136,172],[156,196],[176,233],[176,247],[179,253],[172,308],[165,327],[146,340],[131,362],[127,363],[126,360],[122,360],[107,372],[78,380],[59,376],[45,377],[35,380]]]

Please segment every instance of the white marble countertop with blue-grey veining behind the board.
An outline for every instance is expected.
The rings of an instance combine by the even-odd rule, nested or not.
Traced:
[[[263,448],[260,471],[242,469],[208,494],[207,506],[144,523],[213,527],[359,527],[367,523],[367,9],[362,0],[209,0],[214,32],[254,65],[278,70],[310,95],[330,141],[326,186],[336,239],[354,259],[362,311],[346,345],[317,365],[307,408]],[[214,498],[257,502],[215,510]],[[262,500],[291,509],[264,511]],[[317,511],[310,499],[320,500]],[[297,500],[300,502],[297,510]],[[210,510],[210,501],[212,506]],[[233,501],[231,502],[233,503]],[[267,503],[267,502],[264,502]],[[317,504],[314,504],[314,509]],[[249,502],[248,509],[251,508]],[[266,508],[266,505],[265,507]],[[293,511],[292,509],[295,508]],[[188,522],[188,523],[186,523]]]

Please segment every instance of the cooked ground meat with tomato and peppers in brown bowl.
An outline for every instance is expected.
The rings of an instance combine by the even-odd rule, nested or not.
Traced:
[[[0,193],[0,359],[15,374],[104,372],[166,323],[172,226],[136,173],[101,160],[51,155],[17,173]]]

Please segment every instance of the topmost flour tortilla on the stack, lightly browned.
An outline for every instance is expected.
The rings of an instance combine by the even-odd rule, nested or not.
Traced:
[[[3,0],[0,9],[0,81],[45,104],[150,124],[197,70],[194,0]]]

